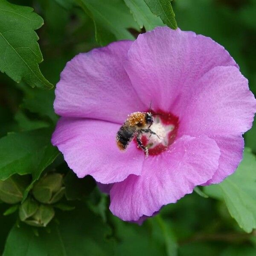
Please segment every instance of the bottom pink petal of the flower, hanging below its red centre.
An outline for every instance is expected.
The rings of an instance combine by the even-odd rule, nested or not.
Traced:
[[[110,209],[124,221],[151,216],[209,180],[218,168],[220,151],[206,136],[183,136],[168,151],[148,157],[141,176],[130,175],[110,191]]]

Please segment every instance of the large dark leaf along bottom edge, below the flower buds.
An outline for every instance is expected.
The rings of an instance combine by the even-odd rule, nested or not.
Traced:
[[[3,256],[104,256],[113,255],[113,241],[107,224],[81,202],[72,212],[60,212],[59,224],[52,221],[35,236],[32,227],[13,227]],[[48,231],[48,232],[47,232]]]

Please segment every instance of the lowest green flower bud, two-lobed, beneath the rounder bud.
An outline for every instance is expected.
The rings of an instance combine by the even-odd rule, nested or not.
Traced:
[[[35,227],[46,227],[54,215],[55,212],[51,206],[39,205],[31,198],[27,198],[19,209],[20,220]]]

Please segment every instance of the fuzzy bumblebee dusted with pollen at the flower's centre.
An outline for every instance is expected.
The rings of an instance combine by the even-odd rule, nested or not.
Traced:
[[[153,122],[154,119],[151,112],[134,112],[128,115],[128,118],[116,134],[118,148],[124,151],[131,140],[136,137],[138,147],[141,148],[145,152],[145,156],[148,157],[148,148],[143,145],[141,135],[143,133],[149,133],[157,136],[157,134],[150,129]]]

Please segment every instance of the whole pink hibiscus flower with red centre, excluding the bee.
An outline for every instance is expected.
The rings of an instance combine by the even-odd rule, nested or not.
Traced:
[[[222,46],[167,27],[77,55],[55,94],[61,119],[52,144],[78,177],[113,183],[110,209],[125,221],[231,175],[256,111],[247,79]],[[150,102],[162,115],[151,126],[160,139],[143,136],[149,157],[135,140],[120,151],[120,126]]]

